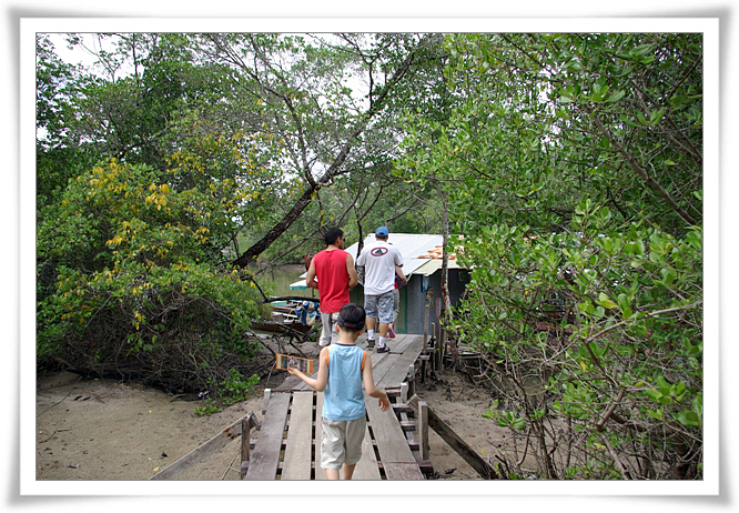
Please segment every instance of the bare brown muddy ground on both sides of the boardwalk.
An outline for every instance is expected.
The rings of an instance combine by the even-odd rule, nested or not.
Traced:
[[[37,480],[148,480],[215,436],[249,412],[262,420],[264,389],[276,388],[286,373],[263,380],[252,398],[211,416],[198,416],[198,401],[112,380],[82,380],[61,372],[37,383]],[[439,372],[416,382],[416,393],[483,457],[495,461],[510,449],[510,435],[484,419],[489,394],[459,375]],[[237,440],[237,439],[236,439]],[[480,476],[444,440],[429,430],[435,479]],[[181,480],[239,480],[240,443],[194,465]]]

